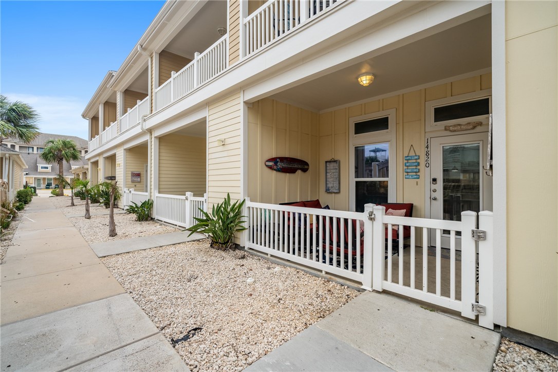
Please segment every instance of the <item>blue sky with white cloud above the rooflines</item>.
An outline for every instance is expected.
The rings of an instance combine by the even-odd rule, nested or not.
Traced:
[[[0,92],[30,104],[41,132],[87,138],[81,112],[164,1],[0,1]]]

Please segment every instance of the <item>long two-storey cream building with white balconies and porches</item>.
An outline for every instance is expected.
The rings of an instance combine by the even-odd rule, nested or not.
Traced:
[[[249,197],[240,245],[466,317],[478,301],[483,326],[558,341],[557,17],[557,2],[167,1],[82,113],[89,178],[115,177],[183,226],[204,194]],[[277,157],[309,169],[264,165]],[[331,211],[278,205],[314,199]],[[435,247],[417,269],[430,286],[384,279],[384,226],[355,268],[343,249],[314,256],[323,235],[370,237],[378,219],[362,211],[381,202],[413,204],[390,224]],[[466,210],[493,211],[485,240]],[[353,254],[358,239],[345,243]],[[478,299],[461,282],[477,259]]]

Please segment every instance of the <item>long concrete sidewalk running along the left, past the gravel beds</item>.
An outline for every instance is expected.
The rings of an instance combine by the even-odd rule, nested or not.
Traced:
[[[0,369],[180,370],[184,361],[51,199],[0,265]]]

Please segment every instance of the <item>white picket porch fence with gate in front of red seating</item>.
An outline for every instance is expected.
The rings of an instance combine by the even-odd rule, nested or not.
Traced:
[[[359,281],[365,289],[386,289],[459,311],[468,318],[476,318],[473,305],[479,303],[485,307],[479,325],[494,326],[492,212],[479,213],[477,229],[477,213],[471,211],[463,212],[461,221],[444,221],[386,216],[384,207],[372,204],[360,213],[262,204],[247,198],[245,208],[247,248]],[[473,239],[475,230],[485,231],[486,239]],[[436,241],[431,250],[430,234]],[[450,236],[449,257],[442,257],[442,234]]]

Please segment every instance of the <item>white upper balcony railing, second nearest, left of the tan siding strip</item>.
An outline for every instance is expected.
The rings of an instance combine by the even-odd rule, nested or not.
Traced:
[[[196,53],[194,60],[178,73],[172,71],[171,78],[155,90],[153,109],[161,110],[215,78],[227,68],[227,55],[227,35],[224,35],[203,53]]]

